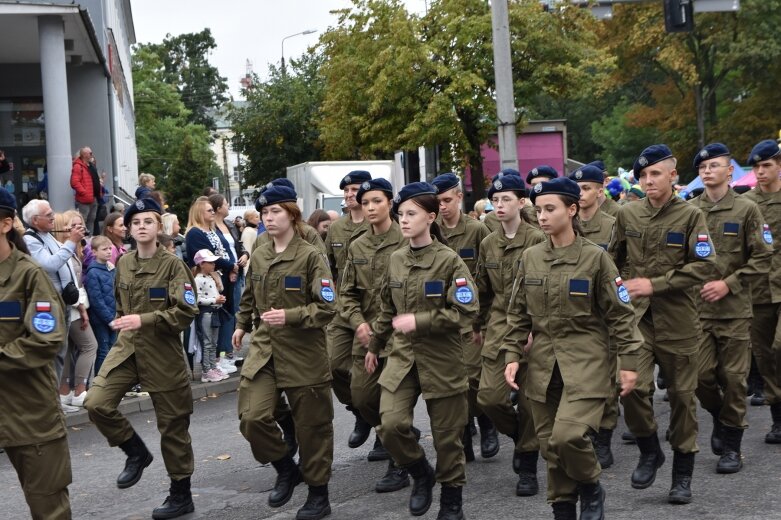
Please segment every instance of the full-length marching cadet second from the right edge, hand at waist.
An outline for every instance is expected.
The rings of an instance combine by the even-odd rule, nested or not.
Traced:
[[[721,278],[705,283],[699,302],[702,336],[697,399],[713,417],[711,450],[717,473],[743,467],[740,444],[746,422],[746,376],[751,364],[749,283],[767,276],[773,248],[762,237],[764,219],[756,204],[729,187],[733,166],[721,143],[694,157],[705,192],[691,201],[708,222]]]

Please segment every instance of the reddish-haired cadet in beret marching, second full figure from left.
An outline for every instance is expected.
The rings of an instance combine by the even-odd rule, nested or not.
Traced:
[[[331,514],[334,409],[325,327],[336,312],[336,291],[325,257],[302,238],[296,192],[274,186],[258,204],[272,241],[252,253],[233,333],[239,349],[244,333],[253,328],[253,312],[258,314],[260,326],[241,369],[239,429],[255,459],[277,471],[269,506],[285,505],[303,481],[309,494],[296,518],[317,520]],[[298,465],[274,419],[281,391],[296,423]]]

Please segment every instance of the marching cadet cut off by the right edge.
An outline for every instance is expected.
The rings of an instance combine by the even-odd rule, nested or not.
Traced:
[[[743,197],[759,206],[765,221],[762,239],[773,245],[781,232],[781,150],[767,139],[751,150],[748,164],[757,177],[757,186]],[[781,247],[774,247],[770,272],[751,285],[754,319],[751,323],[751,348],[765,383],[773,426],[765,436],[768,444],[781,444]]]

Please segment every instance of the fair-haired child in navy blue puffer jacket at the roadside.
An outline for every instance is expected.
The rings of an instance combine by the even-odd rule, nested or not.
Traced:
[[[114,264],[111,263],[111,239],[104,235],[92,237],[90,242],[94,261],[87,267],[85,286],[90,307],[87,309],[92,331],[98,340],[98,353],[95,357],[95,374],[106,359],[108,351],[117,339],[117,333],[109,325],[117,314],[114,299]]]

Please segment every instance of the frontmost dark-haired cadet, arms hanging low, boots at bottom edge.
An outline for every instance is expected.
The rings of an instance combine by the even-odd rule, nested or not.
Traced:
[[[601,172],[599,172],[601,175]],[[605,491],[591,444],[613,391],[608,335],[621,358],[622,395],[634,388],[642,337],[610,255],[580,235],[580,188],[567,178],[536,184],[531,200],[548,239],[524,251],[500,352],[511,388],[525,392],[548,463],[548,501],[557,520],[604,519]],[[534,344],[527,353],[529,334]],[[521,357],[528,375],[518,384]]]

